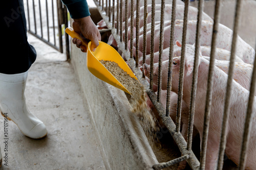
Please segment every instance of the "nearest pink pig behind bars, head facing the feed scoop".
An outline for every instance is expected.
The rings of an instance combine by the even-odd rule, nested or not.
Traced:
[[[185,71],[184,71],[184,87],[183,87],[183,101],[186,104],[190,102],[190,89],[191,89],[191,78],[193,59],[185,60]],[[202,141],[203,132],[203,117],[205,109],[205,98],[206,98],[206,88],[207,88],[207,77],[208,77],[208,67],[209,61],[200,58],[199,72],[198,72],[198,86],[197,86],[197,96],[196,96],[196,110],[195,110],[195,122],[194,125],[200,133]],[[172,91],[178,92],[178,81],[179,81],[179,69],[180,69],[180,57],[174,58],[173,60],[173,82]],[[224,108],[225,100],[225,89],[227,83],[227,74],[214,67],[214,85],[212,91],[212,104],[211,104],[211,114],[209,123],[209,136],[206,151],[206,167],[205,169],[214,169],[218,160],[219,143],[220,143],[220,133],[221,133],[221,123],[222,114]],[[225,153],[229,159],[233,162],[239,162],[240,151],[243,128],[244,128],[244,117],[246,114],[246,107],[248,102],[249,91],[243,88],[239,83],[233,80],[232,82],[232,100],[230,104],[230,116],[227,130],[227,144]],[[255,110],[256,101],[254,99]],[[247,152],[247,163],[246,168],[256,169],[255,156],[256,156],[256,123],[255,114],[253,115],[252,122],[252,135],[249,140],[249,150]]]

